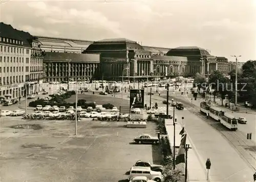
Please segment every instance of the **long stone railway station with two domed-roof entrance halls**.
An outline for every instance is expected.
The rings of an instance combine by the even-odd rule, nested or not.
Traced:
[[[58,68],[66,69],[68,62],[71,78],[87,80],[188,77],[211,74],[218,69],[217,58],[199,47],[148,47],[125,38],[83,41],[36,37],[40,48],[48,52],[44,59],[45,81],[67,80],[68,73]],[[83,56],[78,56],[81,53]],[[97,55],[97,59],[92,55]]]

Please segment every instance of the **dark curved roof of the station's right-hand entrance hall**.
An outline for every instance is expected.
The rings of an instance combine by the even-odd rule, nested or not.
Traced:
[[[211,56],[208,51],[196,46],[178,47],[167,52],[167,56]]]

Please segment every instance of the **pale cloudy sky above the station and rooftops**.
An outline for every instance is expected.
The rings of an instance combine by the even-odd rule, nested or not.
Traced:
[[[127,38],[155,47],[197,46],[256,60],[256,0],[0,0],[1,20],[32,35]]]

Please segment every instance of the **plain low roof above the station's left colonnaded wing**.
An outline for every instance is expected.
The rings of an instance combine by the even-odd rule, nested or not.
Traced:
[[[71,61],[100,62],[100,55],[99,54],[46,52],[44,60],[47,60],[47,61],[71,60]]]

